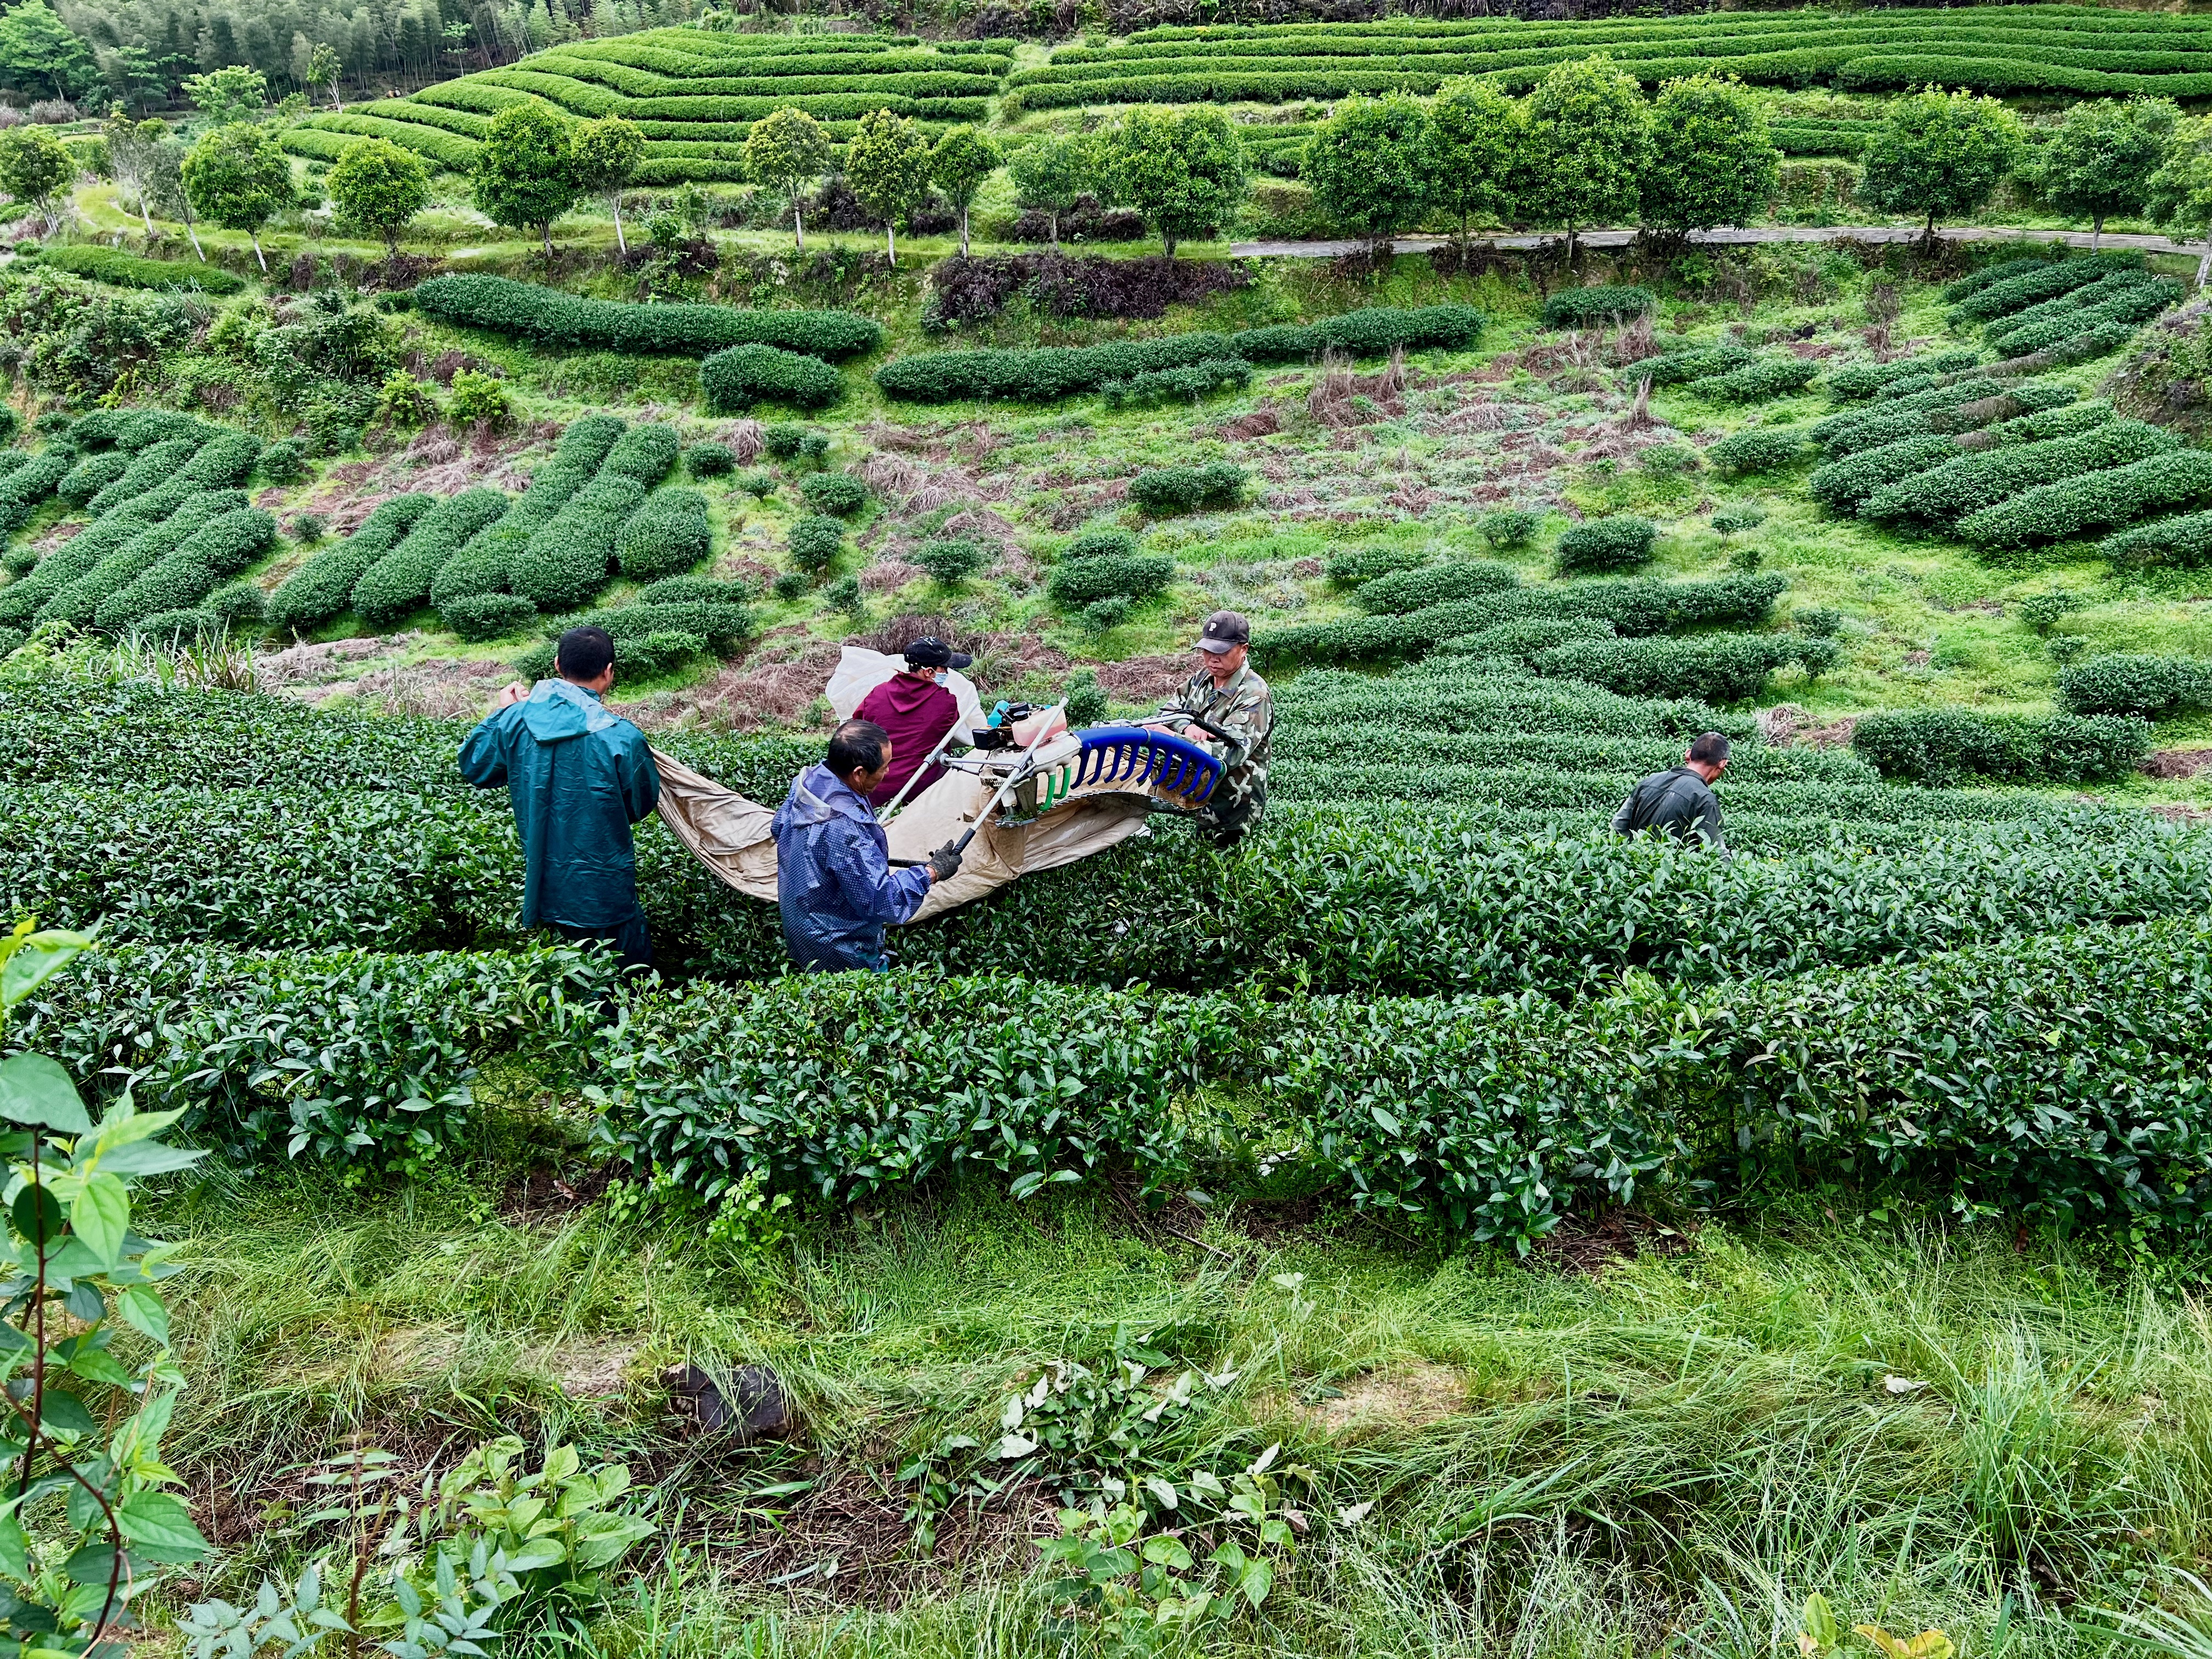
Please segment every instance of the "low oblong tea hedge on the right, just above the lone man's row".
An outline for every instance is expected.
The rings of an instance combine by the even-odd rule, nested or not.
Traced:
[[[1885,779],[1949,787],[1964,776],[2006,783],[2099,783],[2126,776],[2150,750],[2132,714],[1978,714],[1929,708],[1860,714],[1851,752]]]

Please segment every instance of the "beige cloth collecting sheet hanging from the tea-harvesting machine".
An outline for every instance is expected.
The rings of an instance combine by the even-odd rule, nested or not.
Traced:
[[[1073,765],[1075,739],[1060,739],[1040,752],[1040,763],[1051,765],[1055,757],[1066,757]],[[726,790],[714,779],[692,772],[681,761],[653,750],[653,761],[661,770],[661,821],[677,832],[699,860],[752,898],[776,902],[776,843],[770,836],[774,807],[748,801],[737,790]],[[1064,776],[1064,774],[1062,774]],[[927,858],[931,847],[956,841],[982,812],[1004,772],[978,779],[971,772],[947,772],[922,794],[907,801],[905,810],[885,825],[894,858]],[[1015,816],[1033,810],[1031,792],[1037,783],[1024,783]],[[1044,799],[1053,799],[1053,776],[1046,772]],[[1071,792],[1064,805],[1031,823],[1006,825],[998,818],[978,830],[960,860],[960,874],[940,880],[929,889],[922,909],[914,920],[922,922],[942,916],[956,905],[967,905],[984,894],[998,891],[1015,876],[1037,869],[1060,869],[1077,858],[1106,852],[1119,841],[1146,834],[1144,812],[1152,796],[1128,785],[1091,785]]]

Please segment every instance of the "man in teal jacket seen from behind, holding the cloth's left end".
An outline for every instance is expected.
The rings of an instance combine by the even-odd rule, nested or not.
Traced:
[[[646,734],[599,703],[615,684],[615,641],[571,628],[535,690],[509,686],[491,719],[460,745],[460,774],[480,790],[507,785],[522,836],[522,925],[544,922],[573,945],[611,945],[624,969],[653,967],[637,909],[630,825],[661,799]]]

